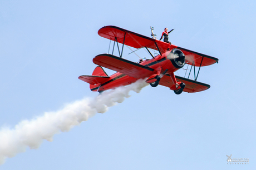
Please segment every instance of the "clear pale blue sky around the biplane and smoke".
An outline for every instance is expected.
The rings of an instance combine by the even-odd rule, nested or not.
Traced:
[[[255,169],[255,1],[1,1],[0,127],[95,97],[78,76],[107,53],[108,25],[219,58],[200,93],[145,87],[0,169]],[[142,56],[143,57],[143,56]],[[129,58],[127,58],[129,59]],[[110,73],[110,72],[108,72]],[[0,141],[0,144],[3,141]],[[227,156],[249,164],[227,164]]]

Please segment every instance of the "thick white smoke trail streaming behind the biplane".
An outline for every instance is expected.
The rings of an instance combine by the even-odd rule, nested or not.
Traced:
[[[85,98],[67,104],[60,111],[46,112],[43,116],[30,121],[21,121],[14,129],[2,128],[0,131],[0,164],[3,164],[6,158],[25,152],[27,147],[31,149],[40,147],[43,139],[52,141],[54,134],[69,131],[72,127],[87,121],[97,112],[106,112],[109,107],[123,102],[125,97],[130,97],[130,91],[139,93],[147,85],[145,80],[140,79],[130,86],[104,92],[93,99]]]

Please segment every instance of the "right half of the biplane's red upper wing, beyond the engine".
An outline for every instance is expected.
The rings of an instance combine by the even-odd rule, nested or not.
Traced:
[[[194,66],[209,66],[214,63],[218,63],[219,59],[198,52],[191,51],[189,49],[178,47],[184,54],[186,58],[186,63]]]

